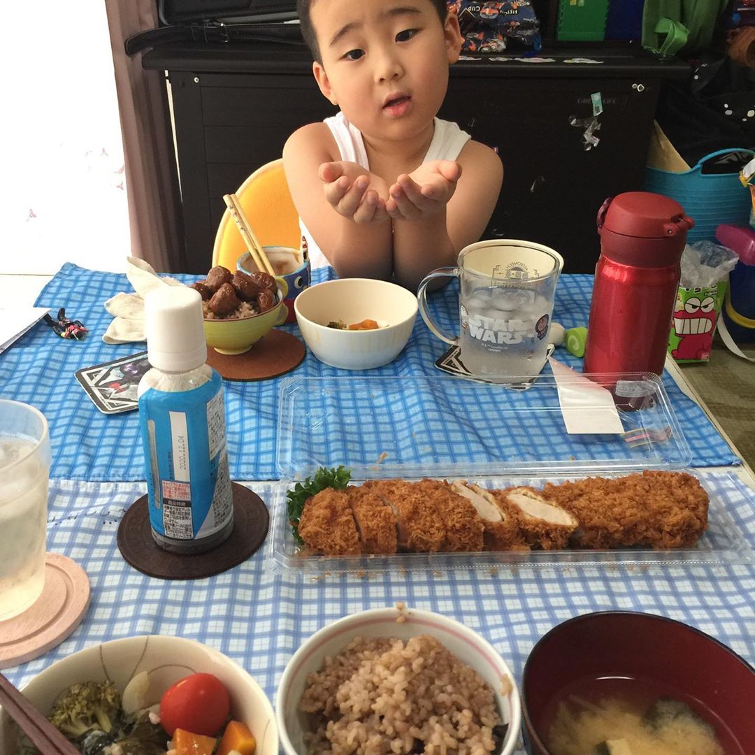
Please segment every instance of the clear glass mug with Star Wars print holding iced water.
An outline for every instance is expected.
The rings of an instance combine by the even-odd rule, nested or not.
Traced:
[[[510,382],[533,377],[545,365],[556,283],[563,267],[557,251],[535,242],[493,239],[459,252],[457,267],[440,267],[421,282],[417,297],[427,327],[475,377]],[[445,332],[427,307],[427,285],[459,279],[460,335]]]

